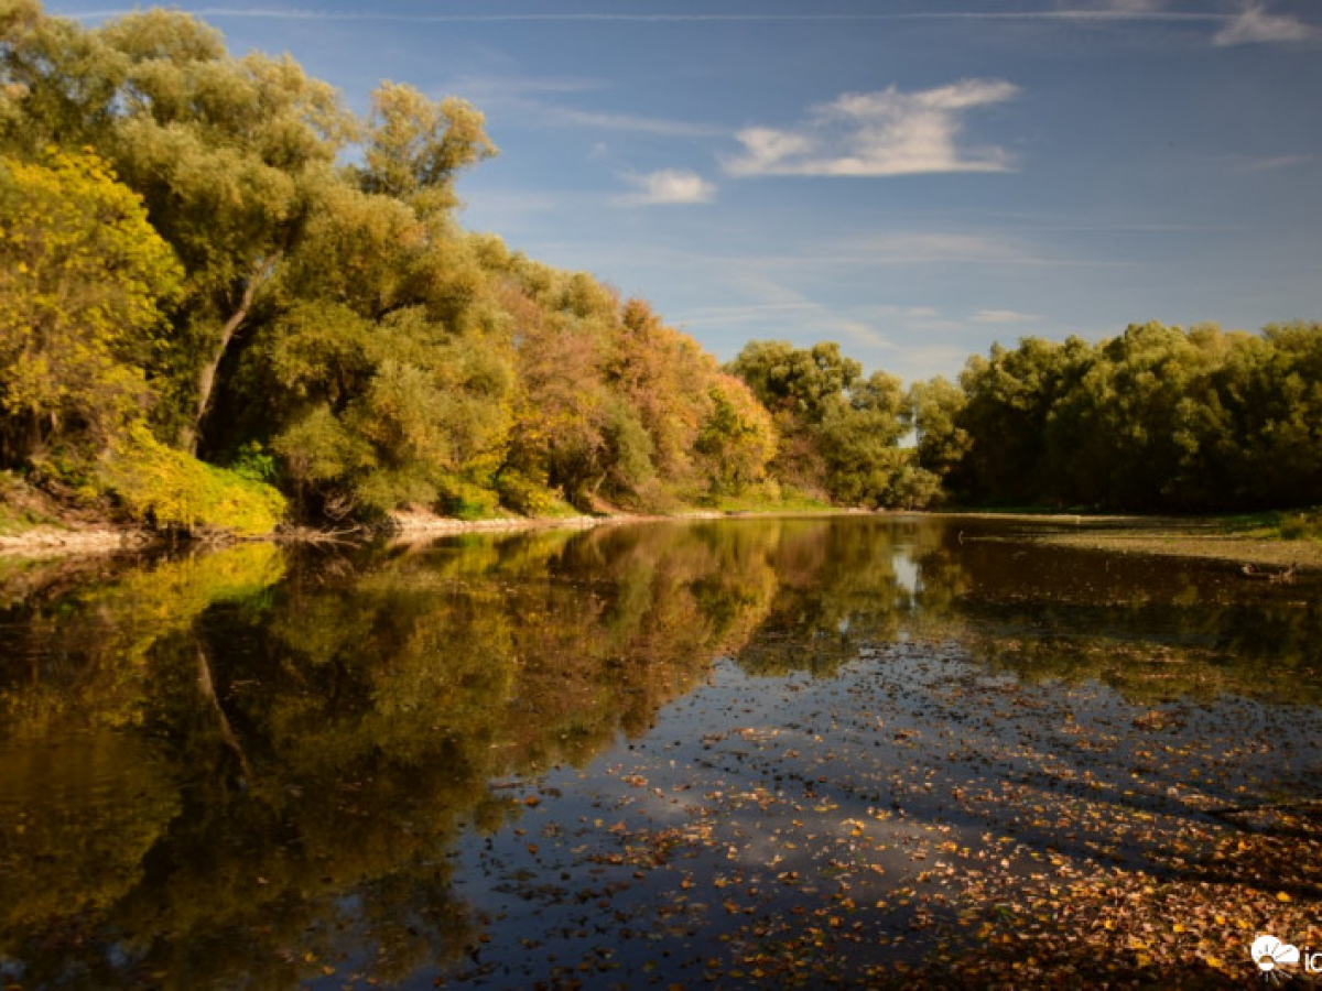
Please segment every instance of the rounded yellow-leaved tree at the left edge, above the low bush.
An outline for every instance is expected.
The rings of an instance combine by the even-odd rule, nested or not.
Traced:
[[[145,415],[180,277],[97,156],[0,160],[0,460],[53,441],[94,453]]]

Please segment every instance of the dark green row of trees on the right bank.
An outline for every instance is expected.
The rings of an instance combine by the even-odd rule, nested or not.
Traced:
[[[1025,338],[915,385],[919,462],[951,498],[1200,513],[1322,502],[1322,324],[1130,325]]]

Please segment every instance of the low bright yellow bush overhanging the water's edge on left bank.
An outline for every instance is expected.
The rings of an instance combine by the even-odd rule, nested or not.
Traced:
[[[275,530],[287,509],[270,485],[167,448],[143,424],[102,457],[97,478],[131,518],[161,530],[255,536]]]

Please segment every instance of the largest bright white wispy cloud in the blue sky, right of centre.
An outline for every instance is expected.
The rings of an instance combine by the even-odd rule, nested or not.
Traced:
[[[813,107],[791,129],[750,127],[743,153],[726,159],[731,176],[912,176],[1009,172],[1001,148],[961,148],[964,115],[1002,103],[1019,89],[999,79],[965,79],[935,90],[845,94]]]

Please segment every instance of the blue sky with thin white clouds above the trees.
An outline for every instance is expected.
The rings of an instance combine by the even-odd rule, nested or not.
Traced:
[[[1322,0],[173,4],[365,111],[486,116],[463,222],[720,359],[1322,320]],[[95,24],[124,8],[46,0]]]

